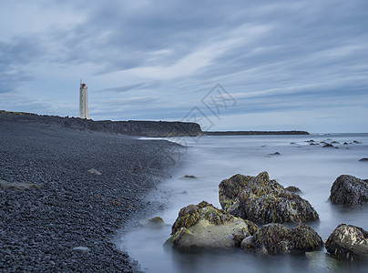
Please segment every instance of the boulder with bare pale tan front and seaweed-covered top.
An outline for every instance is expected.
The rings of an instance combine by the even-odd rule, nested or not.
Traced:
[[[258,230],[249,220],[233,217],[202,201],[179,211],[165,244],[174,248],[235,248]]]

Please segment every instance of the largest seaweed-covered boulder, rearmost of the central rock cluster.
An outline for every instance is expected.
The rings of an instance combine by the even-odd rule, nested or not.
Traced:
[[[235,175],[219,185],[223,210],[235,217],[260,224],[308,222],[318,220],[311,204],[297,194],[285,190],[267,172],[257,177]]]

